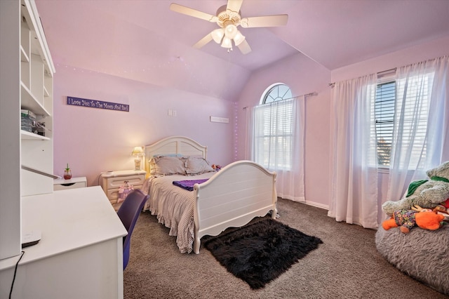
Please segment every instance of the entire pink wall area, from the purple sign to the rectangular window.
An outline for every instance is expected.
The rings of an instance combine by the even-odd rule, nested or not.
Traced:
[[[212,163],[246,159],[243,107],[257,105],[268,86],[283,82],[293,95],[318,93],[306,100],[305,196],[309,204],[327,208],[332,159],[328,84],[435,58],[448,54],[448,49],[449,39],[445,38],[332,72],[302,54],[293,55],[254,72],[235,103],[57,65],[54,171],[61,175],[68,162],[74,176],[86,176],[88,185],[97,185],[102,171],[133,168],[130,151],[134,146],[168,135],[187,135],[208,145]],[[130,112],[69,106],[67,96],[128,104]],[[168,109],[177,110],[177,117],[169,117]],[[210,116],[228,117],[229,124],[211,123]],[[387,177],[380,175],[380,202],[386,188]]]

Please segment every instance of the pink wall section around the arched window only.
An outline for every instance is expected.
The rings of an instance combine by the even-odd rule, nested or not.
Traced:
[[[329,108],[330,71],[302,54],[290,56],[271,67],[252,74],[238,103],[238,158],[245,159],[245,122],[243,107],[260,103],[265,89],[282,82],[293,96],[316,92],[306,98],[305,111],[305,198],[308,204],[327,208],[329,188]]]

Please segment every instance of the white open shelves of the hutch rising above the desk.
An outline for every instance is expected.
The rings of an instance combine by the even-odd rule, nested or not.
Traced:
[[[45,137],[20,131],[21,164],[53,173],[53,74],[51,60],[41,20],[34,1],[20,1],[20,108],[36,114],[45,122]],[[51,178],[22,170],[21,195],[53,192]]]

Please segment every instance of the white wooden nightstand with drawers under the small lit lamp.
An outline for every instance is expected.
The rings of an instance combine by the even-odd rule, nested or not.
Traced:
[[[121,206],[121,204],[117,204],[120,186],[125,185],[127,180],[128,184],[133,185],[134,189],[140,189],[146,174],[146,171],[111,171],[100,175],[100,178],[102,178],[101,187],[115,210],[118,210]]]

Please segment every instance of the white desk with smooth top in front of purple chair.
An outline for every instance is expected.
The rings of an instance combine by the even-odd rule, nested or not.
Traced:
[[[24,248],[12,298],[123,298],[127,232],[100,186],[22,197],[22,233],[30,230],[41,241]],[[0,298],[18,258],[0,260]]]

